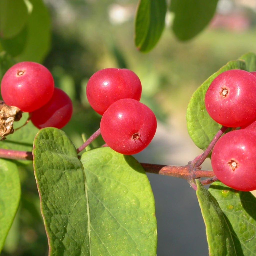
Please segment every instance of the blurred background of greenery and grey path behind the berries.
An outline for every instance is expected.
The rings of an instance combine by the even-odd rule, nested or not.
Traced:
[[[152,143],[135,155],[140,162],[185,165],[201,151],[186,130],[192,93],[229,60],[256,52],[256,1],[220,0],[210,25],[196,38],[178,41],[166,28],[149,53],[134,45],[135,0],[45,0],[51,19],[51,47],[43,64],[56,86],[74,102],[63,130],[76,146],[89,137],[100,116],[89,106],[86,84],[102,68],[129,68],[141,79],[142,102],[157,115]],[[97,140],[94,146],[103,144]],[[210,169],[209,161],[203,168]],[[1,255],[48,255],[32,166],[20,166],[22,201]],[[205,226],[195,191],[186,180],[148,174],[156,201],[159,256],[208,255]]]

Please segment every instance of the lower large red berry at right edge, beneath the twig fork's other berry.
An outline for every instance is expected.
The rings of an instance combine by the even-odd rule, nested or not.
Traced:
[[[228,132],[215,144],[211,164],[217,178],[227,186],[251,191],[256,189],[256,132]]]

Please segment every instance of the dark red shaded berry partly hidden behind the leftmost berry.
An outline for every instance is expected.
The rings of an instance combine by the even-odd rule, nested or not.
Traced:
[[[46,105],[30,113],[32,123],[38,128],[56,127],[61,129],[70,120],[73,106],[68,95],[59,88],[54,88],[52,98]]]

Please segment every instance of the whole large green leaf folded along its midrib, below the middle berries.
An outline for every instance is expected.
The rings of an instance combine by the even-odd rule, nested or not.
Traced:
[[[39,131],[33,155],[49,255],[156,255],[154,198],[133,157],[98,148],[81,163],[55,128]]]

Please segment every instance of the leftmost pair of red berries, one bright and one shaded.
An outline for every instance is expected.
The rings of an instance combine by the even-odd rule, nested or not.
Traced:
[[[1,82],[1,94],[5,104],[29,112],[39,129],[61,129],[72,116],[71,99],[54,87],[50,71],[36,62],[19,62],[8,69]]]

